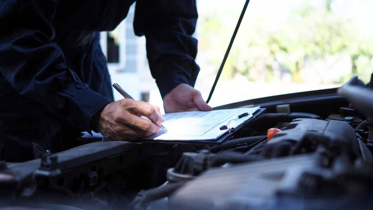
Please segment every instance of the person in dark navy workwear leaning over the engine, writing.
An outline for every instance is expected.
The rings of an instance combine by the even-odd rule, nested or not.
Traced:
[[[149,136],[163,123],[159,108],[113,101],[98,31],[110,31],[134,0],[0,0],[0,157],[32,159],[32,143],[52,152],[76,146],[94,130],[114,139]],[[199,71],[195,1],[136,2],[135,34],[166,112],[210,110],[194,86]],[[123,81],[123,84],[125,81]],[[151,121],[139,116],[147,116]]]

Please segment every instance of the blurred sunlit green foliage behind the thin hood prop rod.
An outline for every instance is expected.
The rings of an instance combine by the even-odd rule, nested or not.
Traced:
[[[351,21],[333,13],[326,0],[324,10],[303,5],[292,11],[287,21],[275,29],[270,18],[258,19],[254,24],[243,25],[237,36],[229,61],[226,77],[245,75],[250,80],[315,80],[319,83],[343,83],[352,74],[367,81],[373,70],[373,42],[356,30]],[[204,49],[210,50],[209,61],[220,64],[226,45],[222,40],[230,37],[215,15],[204,19],[201,32]],[[228,41],[226,41],[228,44]],[[314,71],[314,72],[313,72]]]

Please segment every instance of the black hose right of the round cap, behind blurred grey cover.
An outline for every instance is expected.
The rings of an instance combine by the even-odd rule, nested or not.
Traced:
[[[225,163],[246,163],[263,159],[263,157],[258,155],[243,156],[240,152],[227,151],[216,155],[216,157],[211,160],[209,167],[220,166]]]

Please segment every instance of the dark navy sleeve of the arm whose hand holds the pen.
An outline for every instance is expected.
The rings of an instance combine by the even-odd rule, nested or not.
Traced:
[[[20,95],[90,132],[90,118],[110,101],[66,67],[62,49],[53,42],[56,2],[0,1],[0,22],[8,23],[0,31],[0,72]]]

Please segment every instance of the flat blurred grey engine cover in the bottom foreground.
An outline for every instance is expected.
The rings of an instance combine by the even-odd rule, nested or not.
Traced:
[[[280,189],[296,188],[301,173],[318,167],[319,158],[296,155],[210,169],[170,197],[170,209],[228,210],[273,206],[276,193]]]

